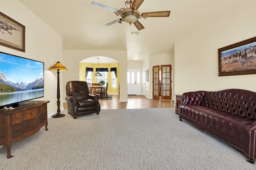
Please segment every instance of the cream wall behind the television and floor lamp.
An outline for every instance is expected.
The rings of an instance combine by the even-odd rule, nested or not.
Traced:
[[[62,62],[62,37],[28,10],[17,0],[1,0],[1,12],[26,27],[25,50],[20,52],[4,46],[0,51],[44,62],[44,98],[36,100],[50,100],[47,105],[48,115],[57,110],[57,73],[48,68],[58,60]],[[18,74],[18,73],[17,73]],[[60,96],[62,94],[62,72],[60,73]],[[60,108],[63,108],[61,102]]]

